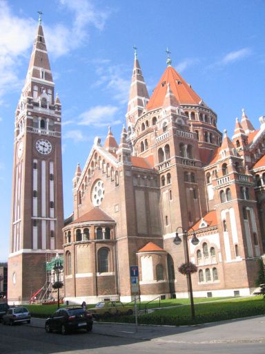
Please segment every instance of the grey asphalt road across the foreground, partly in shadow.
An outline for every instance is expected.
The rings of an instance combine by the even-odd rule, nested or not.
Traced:
[[[203,326],[98,324],[92,333],[46,333],[43,320],[32,325],[0,325],[1,354],[264,354],[265,317]]]

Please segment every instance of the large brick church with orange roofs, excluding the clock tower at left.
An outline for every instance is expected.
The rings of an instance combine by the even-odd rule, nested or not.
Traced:
[[[230,140],[169,53],[166,64],[150,97],[135,49],[126,127],[119,140],[110,127],[105,141],[96,137],[84,168],[77,165],[73,218],[63,227],[70,302],[188,297],[178,271],[185,243],[173,243],[179,228],[198,267],[195,297],[255,289],[265,245],[265,117],[255,130],[243,111]]]

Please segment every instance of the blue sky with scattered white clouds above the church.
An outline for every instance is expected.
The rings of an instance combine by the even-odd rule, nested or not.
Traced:
[[[255,128],[265,115],[262,0],[0,0],[0,261],[8,258],[14,111],[26,77],[37,11],[63,111],[64,212],[72,176],[108,125],[119,142],[133,70],[133,45],[151,94],[173,66],[231,136],[242,108]]]

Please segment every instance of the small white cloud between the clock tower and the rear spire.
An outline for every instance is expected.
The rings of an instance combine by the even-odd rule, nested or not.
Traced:
[[[93,127],[107,127],[108,125],[121,124],[121,120],[115,119],[117,111],[117,106],[95,106],[79,115],[81,121],[78,124]]]

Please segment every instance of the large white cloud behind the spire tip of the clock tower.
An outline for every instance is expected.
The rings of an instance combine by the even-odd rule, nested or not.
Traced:
[[[109,12],[97,10],[90,0],[59,0],[63,11],[70,12],[70,24],[58,23],[55,26],[46,26],[46,43],[50,55],[59,57],[66,55],[70,50],[75,50],[88,41],[88,27],[93,26],[98,30],[104,28]],[[45,15],[43,16],[45,22]],[[37,30],[37,19],[23,18],[11,12],[8,2],[0,0],[0,97],[10,89],[23,86],[19,80],[19,66],[21,59],[27,57],[28,50],[32,48]],[[3,30],[4,29],[4,30]],[[25,73],[26,77],[26,73]],[[0,105],[3,100],[0,100]]]

